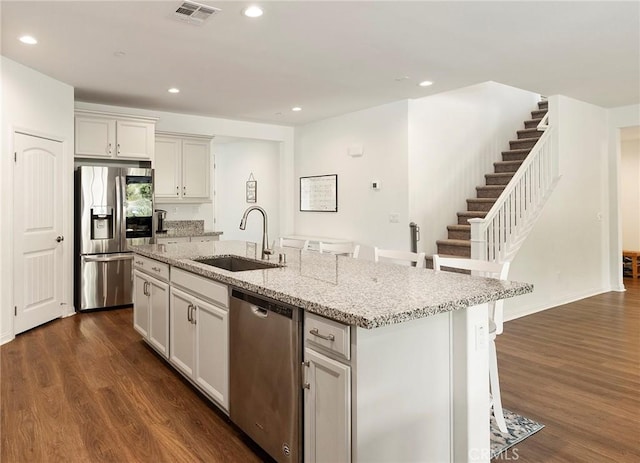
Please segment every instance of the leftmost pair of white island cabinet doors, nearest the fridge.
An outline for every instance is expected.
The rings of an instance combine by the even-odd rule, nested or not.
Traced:
[[[164,357],[169,356],[169,284],[133,271],[133,327]]]

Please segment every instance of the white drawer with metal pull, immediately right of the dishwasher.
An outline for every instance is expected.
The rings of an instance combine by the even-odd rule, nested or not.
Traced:
[[[305,343],[321,347],[338,357],[349,360],[351,358],[350,327],[334,322],[315,314],[305,313],[304,339]]]

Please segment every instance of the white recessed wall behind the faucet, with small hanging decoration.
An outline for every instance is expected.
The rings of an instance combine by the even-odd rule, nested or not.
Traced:
[[[269,218],[269,239],[280,235],[280,144],[241,141],[214,145],[216,158],[216,227],[221,239],[262,242],[262,215],[251,212],[246,230],[240,230],[242,213],[260,206]],[[246,202],[246,181],[253,173],[257,181],[257,202]],[[271,243],[268,243],[271,246]]]

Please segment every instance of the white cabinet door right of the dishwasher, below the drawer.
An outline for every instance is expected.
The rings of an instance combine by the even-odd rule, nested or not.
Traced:
[[[351,461],[351,367],[304,351],[305,462]]]

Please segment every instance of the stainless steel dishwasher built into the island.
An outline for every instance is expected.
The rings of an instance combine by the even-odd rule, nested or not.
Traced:
[[[302,461],[300,309],[233,290],[229,416],[278,462]]]

